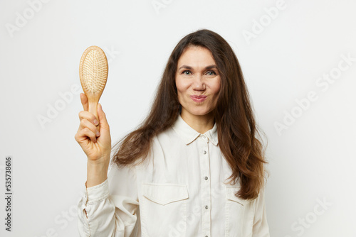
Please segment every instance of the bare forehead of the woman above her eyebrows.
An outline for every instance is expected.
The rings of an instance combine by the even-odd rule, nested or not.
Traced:
[[[192,67],[214,65],[215,60],[210,50],[200,46],[189,46],[179,57],[177,66],[189,65]]]

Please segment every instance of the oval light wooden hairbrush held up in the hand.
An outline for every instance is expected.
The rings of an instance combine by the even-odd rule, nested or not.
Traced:
[[[87,48],[80,58],[80,84],[88,97],[88,110],[98,119],[97,106],[108,79],[108,60],[98,46]],[[97,126],[100,131],[100,123]]]

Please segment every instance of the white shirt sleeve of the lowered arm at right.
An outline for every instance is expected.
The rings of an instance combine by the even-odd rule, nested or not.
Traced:
[[[261,189],[256,200],[256,211],[253,219],[252,237],[270,237],[265,204],[265,190]]]

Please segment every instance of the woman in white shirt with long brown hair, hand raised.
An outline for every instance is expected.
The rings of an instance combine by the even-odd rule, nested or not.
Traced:
[[[220,35],[203,29],[179,41],[150,114],[115,145],[109,174],[108,121],[101,105],[95,121],[80,99],[80,236],[269,236],[264,150],[239,62]]]

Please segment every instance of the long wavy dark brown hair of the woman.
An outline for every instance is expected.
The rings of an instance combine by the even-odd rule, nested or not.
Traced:
[[[254,199],[264,185],[263,163],[267,163],[262,140],[258,140],[261,138],[260,129],[234,51],[224,38],[207,29],[189,33],[176,45],[164,69],[150,114],[135,131],[115,144],[112,162],[119,166],[142,162],[150,153],[152,138],[176,120],[182,110],[175,84],[177,62],[189,46],[207,48],[214,57],[221,78],[219,97],[213,111],[219,148],[232,170],[230,183],[236,184],[239,180],[241,184],[236,197]]]

